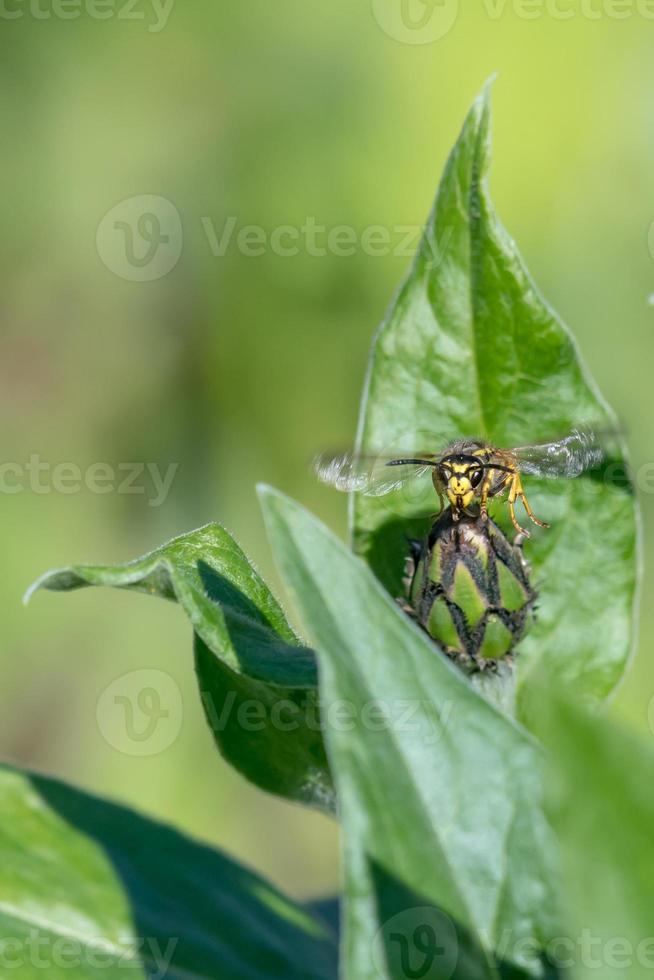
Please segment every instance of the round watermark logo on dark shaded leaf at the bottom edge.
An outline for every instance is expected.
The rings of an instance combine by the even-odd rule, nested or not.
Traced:
[[[458,960],[451,919],[433,906],[405,909],[377,932],[372,961],[380,977],[397,980],[449,980]]]

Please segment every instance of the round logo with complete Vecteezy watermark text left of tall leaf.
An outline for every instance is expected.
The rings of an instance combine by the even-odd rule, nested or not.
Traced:
[[[281,224],[272,228],[244,224],[235,215],[220,222],[210,215],[201,215],[197,219],[197,227],[206,247],[216,259],[224,258],[229,252],[238,252],[248,258],[267,254],[279,258],[299,255],[347,258],[363,254],[411,259],[418,251],[425,232],[424,225],[416,224],[375,224],[363,229],[345,224],[330,226],[319,221],[315,215],[307,215],[298,224]],[[446,227],[437,237],[424,237],[424,256],[428,267],[437,268],[442,263],[452,234],[453,228]],[[102,262],[122,279],[131,282],[162,279],[175,268],[182,254],[183,233],[179,211],[163,197],[141,194],[127,198],[102,218],[96,244]]]

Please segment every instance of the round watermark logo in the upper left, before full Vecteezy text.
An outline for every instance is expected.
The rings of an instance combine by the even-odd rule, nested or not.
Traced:
[[[152,282],[175,268],[183,238],[175,205],[156,194],[139,194],[107,211],[98,226],[96,247],[114,275]]]

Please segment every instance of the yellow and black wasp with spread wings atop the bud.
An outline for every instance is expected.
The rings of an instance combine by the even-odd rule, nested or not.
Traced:
[[[511,523],[519,534],[529,537],[516,517],[518,501],[538,527],[549,527],[549,524],[534,515],[522,485],[523,474],[571,479],[598,466],[603,458],[604,451],[596,434],[575,429],[557,442],[515,449],[500,449],[482,439],[459,439],[440,453],[394,457],[356,452],[325,454],[314,461],[314,469],[323,483],[337,490],[375,497],[398,490],[409,480],[431,471],[440,502],[438,513],[447,501],[455,521],[464,515],[478,514],[487,520],[489,501],[506,493]]]

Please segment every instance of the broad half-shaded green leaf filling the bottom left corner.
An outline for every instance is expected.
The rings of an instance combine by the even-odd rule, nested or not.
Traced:
[[[8,767],[0,813],[2,976],[336,977],[327,927],[175,830]]]

